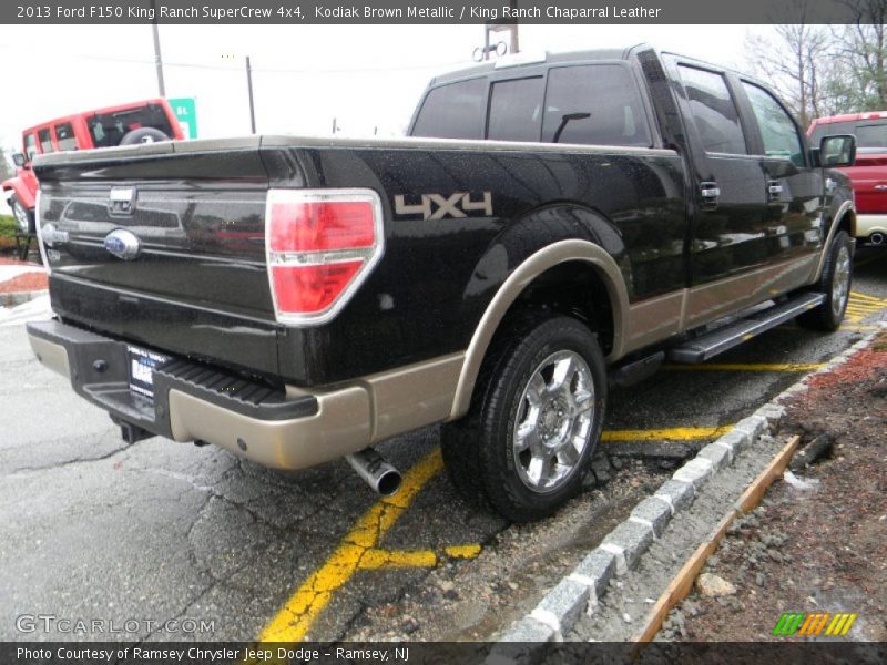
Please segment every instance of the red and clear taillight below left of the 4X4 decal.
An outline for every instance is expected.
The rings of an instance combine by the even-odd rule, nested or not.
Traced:
[[[384,241],[373,190],[271,190],[265,249],[277,320],[332,319],[381,257]]]

